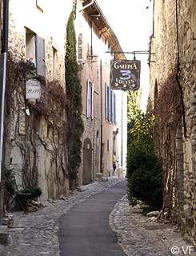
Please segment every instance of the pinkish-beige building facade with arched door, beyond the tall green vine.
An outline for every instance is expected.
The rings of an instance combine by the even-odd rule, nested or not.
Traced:
[[[123,126],[122,133],[122,122],[126,124],[126,93],[110,90],[110,60],[117,56],[106,52],[108,50],[122,51],[122,49],[118,38],[98,6],[98,1],[78,1],[77,8],[74,24],[78,38],[79,76],[82,81],[82,119],[85,125],[82,136],[82,165],[78,174],[78,182],[86,184],[95,181],[96,174],[105,177],[114,175],[114,151],[120,160],[115,174],[124,174],[126,125]],[[118,58],[124,58],[124,55],[118,54]],[[110,103],[106,100],[109,94]]]

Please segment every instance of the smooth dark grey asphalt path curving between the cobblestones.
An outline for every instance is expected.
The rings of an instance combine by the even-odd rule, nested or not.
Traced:
[[[126,182],[119,182],[63,214],[58,234],[61,256],[126,256],[108,222],[116,202],[125,194]]]

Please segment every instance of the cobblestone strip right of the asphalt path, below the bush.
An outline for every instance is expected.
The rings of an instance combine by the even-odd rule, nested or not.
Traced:
[[[117,233],[118,245],[129,256],[196,255],[177,226],[168,222],[148,222],[139,206],[130,206],[126,196],[114,206],[109,217]]]

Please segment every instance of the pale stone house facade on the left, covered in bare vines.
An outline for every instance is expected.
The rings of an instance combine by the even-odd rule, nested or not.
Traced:
[[[55,92],[65,94],[66,22],[72,6],[72,1],[55,5],[36,0],[9,1],[6,88],[11,99],[6,106],[5,165],[13,170],[18,190],[40,186],[44,199],[58,198],[69,191],[63,138],[66,110]],[[42,76],[38,99],[26,98],[26,81],[35,73],[18,71],[20,63],[29,59],[37,66],[37,75]],[[46,97],[48,93],[50,98]]]

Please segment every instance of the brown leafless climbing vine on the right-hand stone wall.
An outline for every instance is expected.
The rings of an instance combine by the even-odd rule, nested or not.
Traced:
[[[175,139],[182,130],[182,95],[176,80],[176,65],[166,81],[159,85],[154,99],[154,114],[158,119],[154,127],[154,140],[158,143],[163,168],[163,214],[170,217],[174,207],[174,194],[178,193],[177,149]],[[182,136],[182,134],[181,134]]]

